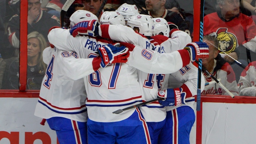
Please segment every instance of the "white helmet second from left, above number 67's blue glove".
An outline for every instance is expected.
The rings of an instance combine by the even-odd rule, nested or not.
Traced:
[[[107,11],[104,12],[100,17],[100,24],[121,24],[125,26],[126,22],[119,12]]]

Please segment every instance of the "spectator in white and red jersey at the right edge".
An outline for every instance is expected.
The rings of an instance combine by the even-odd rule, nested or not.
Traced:
[[[241,96],[256,97],[256,61],[248,64],[241,73],[237,88]]]

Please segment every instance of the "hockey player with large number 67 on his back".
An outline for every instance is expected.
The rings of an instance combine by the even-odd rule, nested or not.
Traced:
[[[101,25],[104,26],[104,25]],[[105,25],[111,26],[111,25]],[[113,25],[114,26],[114,25]],[[121,26],[121,25],[119,25]],[[77,31],[74,31],[77,30]],[[72,27],[71,33],[97,35],[97,21],[83,21]],[[77,32],[77,33],[76,33]],[[56,36],[58,39],[56,40]],[[49,41],[56,47],[63,49],[75,49],[78,53],[84,53],[87,50],[97,50],[97,45],[103,44],[99,37],[76,37],[73,38],[69,31],[55,28],[48,35]],[[90,42],[93,41],[93,42]],[[199,47],[196,47],[198,49]],[[186,57],[187,50],[181,50],[172,54],[158,56],[157,53],[141,49],[139,47],[129,47],[130,54],[133,55],[129,62],[134,67],[149,73],[159,71],[161,69],[165,73],[177,71],[190,59],[182,61],[180,56]],[[194,59],[195,49],[192,49],[192,59]],[[93,54],[93,53],[92,53]],[[207,54],[206,54],[207,55]],[[197,55],[199,57],[199,55]],[[204,55],[205,56],[205,55]],[[164,67],[162,64],[156,65],[155,61],[163,61],[163,65],[171,65]],[[141,63],[137,63],[141,61]],[[170,61],[175,61],[170,64]],[[147,64],[147,66],[145,66]],[[126,83],[123,83],[125,81]],[[136,102],[141,102],[140,86],[137,82],[136,69],[127,64],[115,64],[107,66],[104,69],[95,71],[92,75],[85,78],[85,87],[88,92],[86,105],[88,107],[88,142],[90,143],[150,143],[149,134],[147,133],[147,125],[141,117],[139,109],[133,111],[125,111],[121,115],[113,114],[117,109],[123,109],[131,106]],[[121,94],[121,95],[120,95]],[[95,113],[97,112],[97,113]],[[131,119],[133,122],[131,123]],[[144,121],[144,123],[141,122]],[[129,123],[128,127],[124,127]],[[142,125],[143,124],[143,125]],[[118,129],[114,128],[117,127]],[[135,128],[137,127],[137,128]],[[142,130],[144,129],[145,130]],[[97,137],[100,135],[100,139]],[[122,138],[121,138],[122,137]]]

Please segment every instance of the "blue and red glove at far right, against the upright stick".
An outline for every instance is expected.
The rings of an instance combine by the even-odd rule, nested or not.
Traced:
[[[205,42],[192,42],[184,48],[190,53],[190,61],[209,57],[209,47]]]

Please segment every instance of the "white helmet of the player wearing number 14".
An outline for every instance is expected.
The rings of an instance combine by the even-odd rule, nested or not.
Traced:
[[[154,32],[154,20],[151,16],[145,14],[137,14],[127,21],[127,26],[138,27],[140,29],[140,34],[145,36],[152,36]]]

